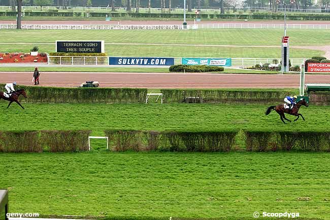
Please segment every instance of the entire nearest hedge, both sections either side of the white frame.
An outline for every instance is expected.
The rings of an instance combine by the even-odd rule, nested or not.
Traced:
[[[0,132],[0,152],[74,152],[88,150],[91,131]],[[330,151],[330,131],[135,131],[106,130],[113,151]],[[234,148],[236,140],[245,143]]]

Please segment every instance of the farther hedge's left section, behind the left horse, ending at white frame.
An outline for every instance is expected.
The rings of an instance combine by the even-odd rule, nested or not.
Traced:
[[[102,84],[102,82],[101,82]],[[25,89],[27,98],[20,102],[44,103],[137,103],[147,96],[144,88],[60,88],[18,85]],[[4,84],[0,84],[4,91]]]

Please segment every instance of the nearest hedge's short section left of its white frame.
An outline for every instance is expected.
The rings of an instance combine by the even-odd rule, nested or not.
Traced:
[[[91,131],[0,132],[0,152],[68,152],[88,150]]]

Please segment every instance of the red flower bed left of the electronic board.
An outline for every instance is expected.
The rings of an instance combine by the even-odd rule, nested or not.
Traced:
[[[34,60],[37,60],[37,62],[34,62]],[[20,64],[22,62],[47,63],[47,56],[40,56],[40,53],[38,53],[38,56],[31,56],[29,53],[0,53],[0,64]]]

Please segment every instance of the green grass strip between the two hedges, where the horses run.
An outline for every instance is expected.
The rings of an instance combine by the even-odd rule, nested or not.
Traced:
[[[270,105],[23,103],[25,110],[17,104],[6,109],[7,105],[7,102],[0,102],[3,112],[0,120],[17,121],[17,125],[3,123],[0,131],[86,129],[92,130],[93,134],[103,134],[107,129],[315,131],[330,128],[328,106],[302,107],[300,112],[306,121],[300,119],[284,125],[276,112],[265,115]],[[294,119],[295,116],[288,118]]]

